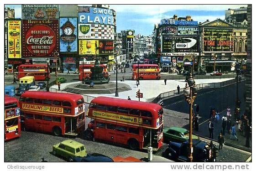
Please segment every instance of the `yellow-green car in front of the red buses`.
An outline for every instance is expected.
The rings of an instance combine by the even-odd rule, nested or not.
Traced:
[[[73,161],[73,157],[86,156],[86,149],[83,144],[74,140],[64,140],[61,143],[52,145],[52,154],[62,156],[68,161]]]

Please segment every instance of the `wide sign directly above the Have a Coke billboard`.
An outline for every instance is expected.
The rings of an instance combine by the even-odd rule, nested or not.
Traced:
[[[59,5],[54,4],[27,4],[21,5],[21,17],[28,19],[57,19]]]

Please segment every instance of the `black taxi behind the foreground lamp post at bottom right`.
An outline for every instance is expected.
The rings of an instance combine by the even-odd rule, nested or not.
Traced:
[[[192,140],[193,143],[193,161],[194,162],[214,162],[218,149],[215,145],[210,147],[206,141]],[[164,152],[165,157],[171,160],[188,161],[188,141],[183,143],[170,142]]]

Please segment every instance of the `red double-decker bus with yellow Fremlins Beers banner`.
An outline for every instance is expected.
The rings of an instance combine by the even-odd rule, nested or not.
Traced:
[[[25,130],[55,136],[78,135],[85,130],[85,104],[80,94],[27,91],[21,94]]]

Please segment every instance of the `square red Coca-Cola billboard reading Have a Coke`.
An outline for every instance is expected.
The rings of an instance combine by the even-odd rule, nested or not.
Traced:
[[[23,20],[22,30],[23,57],[55,57],[59,50],[58,20]]]

